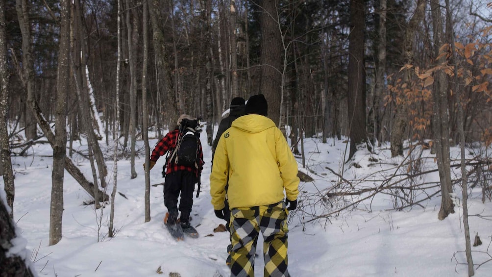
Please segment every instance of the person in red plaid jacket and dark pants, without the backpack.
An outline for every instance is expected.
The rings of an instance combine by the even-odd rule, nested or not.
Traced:
[[[179,136],[179,127],[183,119],[196,120],[189,115],[181,115],[174,130],[167,133],[155,146],[151,154],[149,169],[152,169],[160,156],[171,153],[176,147]],[[181,212],[181,227],[186,229],[190,226],[189,215],[193,206],[193,191],[195,184],[200,182],[203,164],[203,150],[200,140],[198,140],[198,168],[177,165],[166,160],[164,180],[164,205],[166,206],[169,217],[167,224],[175,224],[178,219],[178,210]],[[145,165],[144,165],[145,166]],[[165,174],[164,174],[165,173]],[[181,200],[178,208],[178,197],[181,192]]]

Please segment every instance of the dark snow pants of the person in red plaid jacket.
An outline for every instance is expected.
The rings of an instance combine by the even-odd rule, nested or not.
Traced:
[[[193,191],[195,190],[197,177],[195,173],[179,170],[166,175],[164,180],[164,205],[169,212],[169,218],[176,220],[178,210],[181,212],[181,222],[188,222],[193,206]],[[180,206],[178,198],[181,193]]]

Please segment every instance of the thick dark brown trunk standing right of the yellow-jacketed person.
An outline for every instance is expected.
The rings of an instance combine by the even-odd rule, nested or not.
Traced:
[[[348,120],[350,129],[350,153],[367,142],[366,131],[366,72],[364,62],[364,0],[350,0],[350,34],[348,60]]]

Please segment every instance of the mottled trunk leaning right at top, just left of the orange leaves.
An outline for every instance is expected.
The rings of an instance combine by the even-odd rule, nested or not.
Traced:
[[[415,32],[418,30],[418,28],[420,28],[420,22],[424,18],[424,14],[425,14],[425,7],[426,7],[425,0],[417,1],[415,12],[410,18],[410,21],[408,22],[408,27],[405,30],[405,37],[403,42],[403,55],[405,57],[406,64],[413,64],[413,60],[414,60],[413,45],[415,41]],[[406,84],[410,79],[409,77],[410,72],[408,69],[403,69],[403,70],[404,70],[403,72],[404,75],[403,75],[402,83]],[[405,97],[405,96],[402,95],[401,97]],[[400,101],[399,103],[396,103],[396,115],[395,115],[395,120],[393,123],[393,128],[391,131],[391,138],[390,138],[390,143],[391,143],[390,149],[391,149],[392,157],[403,154],[403,137],[405,135],[406,125],[408,124],[407,112],[408,112],[408,105],[406,101]]]

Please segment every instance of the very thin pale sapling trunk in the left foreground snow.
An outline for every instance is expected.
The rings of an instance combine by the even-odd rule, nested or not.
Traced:
[[[147,2],[147,1],[146,1]],[[115,122],[113,125],[113,144],[114,144],[114,169],[113,169],[113,190],[111,191],[111,209],[109,213],[108,237],[115,236],[115,228],[113,227],[115,219],[115,197],[118,185],[118,142],[119,142],[119,127],[120,127],[120,65],[122,59],[122,34],[121,34],[121,18],[122,7],[121,0],[118,0],[118,60],[116,63],[116,100],[115,100]]]

